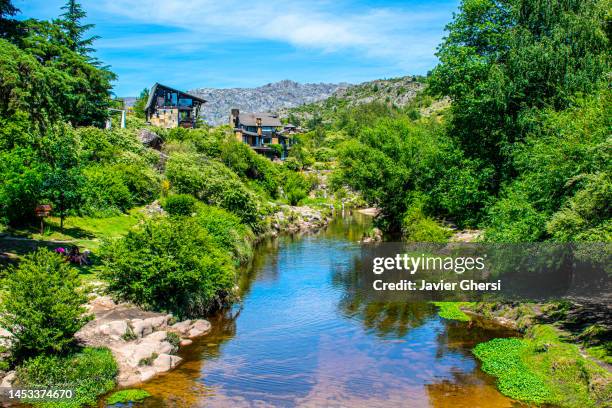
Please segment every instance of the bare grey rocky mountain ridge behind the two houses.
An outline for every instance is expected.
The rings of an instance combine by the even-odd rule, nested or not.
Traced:
[[[326,99],[349,86],[346,83],[299,84],[284,80],[257,88],[197,88],[189,93],[208,101],[202,106],[201,115],[209,124],[220,125],[228,122],[232,108],[247,112],[276,112]]]

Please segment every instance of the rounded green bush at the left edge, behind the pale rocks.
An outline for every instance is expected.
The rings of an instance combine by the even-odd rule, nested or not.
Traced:
[[[10,268],[3,284],[0,327],[14,336],[17,360],[70,349],[89,317],[78,273],[62,256],[38,249]]]

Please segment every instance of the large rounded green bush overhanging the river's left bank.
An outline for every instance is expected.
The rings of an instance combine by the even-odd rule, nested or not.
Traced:
[[[194,218],[147,220],[104,243],[101,253],[111,293],[176,316],[220,306],[234,284],[229,253]]]

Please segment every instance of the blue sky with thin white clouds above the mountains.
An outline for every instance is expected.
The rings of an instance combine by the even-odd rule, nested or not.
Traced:
[[[14,0],[20,18],[63,0]],[[358,83],[425,74],[459,0],[82,0],[118,96],[155,82],[193,89]]]

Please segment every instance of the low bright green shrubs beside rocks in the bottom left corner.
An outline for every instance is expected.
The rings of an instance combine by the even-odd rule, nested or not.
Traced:
[[[43,408],[93,406],[100,395],[115,388],[117,363],[110,350],[86,347],[67,356],[41,355],[17,368],[16,386],[23,388],[73,389],[72,399],[34,402]]]

